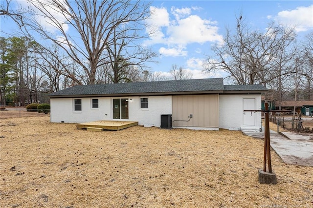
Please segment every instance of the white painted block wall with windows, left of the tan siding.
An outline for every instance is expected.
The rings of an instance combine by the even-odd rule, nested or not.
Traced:
[[[172,96],[148,96],[148,109],[140,108],[140,98],[114,97],[129,99],[129,119],[138,121],[139,125],[157,126],[160,124],[161,114],[172,114]],[[74,99],[82,99],[82,111],[74,111]],[[50,121],[53,123],[84,123],[99,120],[116,120],[112,116],[112,97],[99,99],[99,108],[91,108],[92,98],[53,98],[50,99]],[[125,121],[125,120],[117,120]]]

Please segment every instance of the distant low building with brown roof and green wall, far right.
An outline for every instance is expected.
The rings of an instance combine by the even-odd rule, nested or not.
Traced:
[[[311,116],[313,112],[313,101],[283,101],[275,102],[276,107],[281,106],[285,110],[293,110],[296,107],[296,112],[305,116]]]

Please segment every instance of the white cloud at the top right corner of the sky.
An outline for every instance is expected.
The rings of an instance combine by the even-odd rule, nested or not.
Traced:
[[[277,16],[268,16],[268,19],[274,19],[285,26],[295,27],[297,32],[313,29],[313,4],[308,7],[297,7],[294,10],[285,10]]]

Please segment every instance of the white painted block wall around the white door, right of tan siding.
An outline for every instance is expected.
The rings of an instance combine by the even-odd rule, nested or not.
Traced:
[[[261,110],[261,95],[220,95],[220,128],[225,128],[229,130],[240,130],[241,128],[245,127],[243,125],[244,98],[255,98],[255,109]],[[255,113],[255,119],[255,126],[248,127],[261,129],[261,112]]]

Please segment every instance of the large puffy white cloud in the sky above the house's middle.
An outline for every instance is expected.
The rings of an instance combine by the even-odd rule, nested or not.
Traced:
[[[165,56],[186,56],[188,44],[205,42],[223,43],[223,36],[218,33],[217,21],[201,19],[192,15],[200,7],[171,8],[171,14],[164,7],[150,7],[151,16],[147,20],[147,32],[154,32],[144,44],[164,44],[159,52]],[[171,18],[172,17],[172,18]]]

